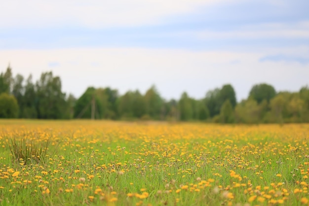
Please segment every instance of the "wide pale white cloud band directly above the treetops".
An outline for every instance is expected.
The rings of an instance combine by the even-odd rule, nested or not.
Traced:
[[[137,88],[145,92],[155,84],[168,99],[179,98],[183,91],[201,98],[209,89],[232,83],[239,100],[247,97],[255,83],[268,82],[278,90],[292,91],[309,84],[308,64],[259,61],[278,52],[288,55],[303,51],[308,55],[309,48],[259,52],[143,48],[0,50],[0,68],[4,70],[10,62],[14,74],[32,73],[34,79],[43,71],[53,70],[61,76],[64,91],[77,97],[91,85],[111,86],[124,93]]]

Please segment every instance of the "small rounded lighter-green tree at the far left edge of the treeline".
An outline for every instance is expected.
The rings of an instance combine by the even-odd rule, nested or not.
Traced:
[[[17,118],[18,103],[14,96],[7,93],[0,94],[0,118]]]

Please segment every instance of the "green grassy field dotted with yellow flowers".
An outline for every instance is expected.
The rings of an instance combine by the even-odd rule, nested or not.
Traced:
[[[308,205],[308,137],[308,124],[1,120],[0,204]],[[14,143],[48,149],[16,159]]]

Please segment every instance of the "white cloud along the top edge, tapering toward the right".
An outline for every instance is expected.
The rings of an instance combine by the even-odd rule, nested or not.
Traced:
[[[9,0],[0,2],[0,28],[149,25],[228,1],[235,0]]]

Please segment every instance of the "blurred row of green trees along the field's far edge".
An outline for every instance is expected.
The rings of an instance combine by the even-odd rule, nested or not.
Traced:
[[[179,100],[167,101],[154,86],[144,95],[138,90],[119,95],[109,87],[89,87],[76,99],[62,91],[60,77],[51,71],[43,72],[34,82],[31,74],[26,79],[21,74],[13,76],[8,67],[0,74],[0,118],[309,122],[309,88],[276,92],[269,84],[257,84],[240,103],[230,84],[208,91],[200,100],[184,92]]]

